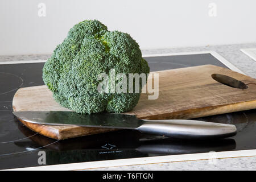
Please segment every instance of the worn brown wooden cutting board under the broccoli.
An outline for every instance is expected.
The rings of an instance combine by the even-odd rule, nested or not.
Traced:
[[[148,94],[142,94],[138,105],[126,114],[134,114],[144,119],[187,119],[256,108],[256,80],[229,69],[202,65],[154,73],[159,73],[158,99],[148,100]],[[233,88],[221,84],[212,78],[213,74],[236,78],[248,84],[247,88]],[[52,92],[45,85],[20,88],[13,98],[13,110],[69,111],[53,100]],[[113,131],[21,122],[31,130],[54,139]]]

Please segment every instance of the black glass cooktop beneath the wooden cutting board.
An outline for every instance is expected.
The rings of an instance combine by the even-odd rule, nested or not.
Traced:
[[[209,53],[145,59],[151,71],[203,64],[226,67]],[[11,104],[18,88],[43,85],[43,65],[44,63],[0,65],[0,169],[256,148],[256,110],[197,118],[237,126],[238,133],[235,137],[220,140],[177,140],[131,130],[67,140],[43,137],[27,129],[14,117]]]

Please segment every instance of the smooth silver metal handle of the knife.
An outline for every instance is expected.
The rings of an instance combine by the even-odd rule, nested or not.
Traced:
[[[236,135],[234,125],[189,119],[146,120],[137,127],[141,133],[162,135],[178,139],[217,139]]]

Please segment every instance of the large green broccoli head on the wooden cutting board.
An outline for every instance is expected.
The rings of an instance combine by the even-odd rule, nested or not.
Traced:
[[[137,105],[141,88],[139,93],[99,93],[97,76],[109,75],[113,68],[126,75],[150,71],[129,34],[108,31],[98,20],[84,20],[69,30],[46,61],[43,81],[56,102],[77,113],[122,113]]]

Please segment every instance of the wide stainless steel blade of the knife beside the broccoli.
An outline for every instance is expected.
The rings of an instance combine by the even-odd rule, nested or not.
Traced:
[[[135,115],[127,114],[79,114],[72,111],[14,111],[13,114],[23,121],[42,125],[134,129],[142,124]]]

